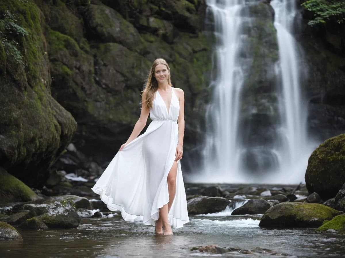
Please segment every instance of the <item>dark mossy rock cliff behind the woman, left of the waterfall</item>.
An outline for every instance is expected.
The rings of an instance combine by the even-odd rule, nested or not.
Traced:
[[[99,163],[114,156],[139,118],[140,91],[158,57],[185,92],[185,148],[198,142],[210,69],[204,0],[37,3],[48,24],[52,95],[78,122],[78,150]]]

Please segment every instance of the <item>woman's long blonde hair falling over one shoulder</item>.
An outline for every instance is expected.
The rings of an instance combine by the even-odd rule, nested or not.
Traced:
[[[152,104],[153,104],[153,100],[154,100],[154,97],[155,97],[155,93],[158,89],[158,83],[157,83],[157,80],[154,76],[155,74],[155,68],[157,65],[159,64],[163,64],[167,67],[168,71],[169,71],[169,75],[168,75],[168,84],[170,86],[172,86],[171,84],[171,81],[170,81],[170,68],[169,68],[169,65],[168,63],[162,59],[162,58],[157,58],[152,66],[151,66],[151,70],[150,70],[150,73],[147,77],[147,80],[146,80],[146,83],[145,83],[145,86],[144,86],[144,90],[142,90],[142,94],[145,93],[145,99],[143,100],[144,103],[141,103],[141,105],[145,105],[145,107],[147,109],[150,109],[152,107]]]

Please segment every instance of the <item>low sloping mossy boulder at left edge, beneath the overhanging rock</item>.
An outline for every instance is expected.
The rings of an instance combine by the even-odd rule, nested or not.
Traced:
[[[0,167],[0,203],[27,202],[37,198],[26,184]]]

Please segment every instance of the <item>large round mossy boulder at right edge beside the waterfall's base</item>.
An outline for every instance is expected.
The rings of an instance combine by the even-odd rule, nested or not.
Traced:
[[[309,193],[335,197],[345,183],[345,134],[329,138],[313,151],[305,173]]]

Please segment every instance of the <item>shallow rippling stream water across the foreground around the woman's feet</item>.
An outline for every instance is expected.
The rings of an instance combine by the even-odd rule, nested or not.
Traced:
[[[226,212],[224,213],[227,214]],[[261,216],[194,216],[173,236],[156,236],[154,227],[125,222],[119,216],[82,219],[76,229],[21,230],[23,240],[0,241],[0,256],[8,257],[267,257],[211,255],[190,248],[269,248],[295,257],[343,257],[345,239],[315,229],[268,230],[258,227]],[[277,256],[273,256],[277,257]],[[280,256],[279,256],[280,257]]]

